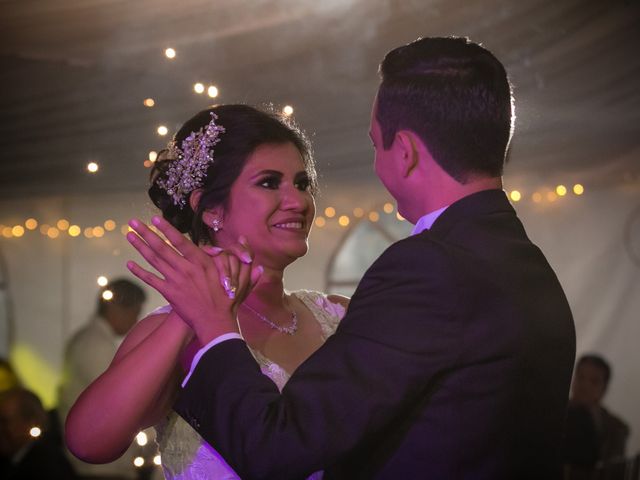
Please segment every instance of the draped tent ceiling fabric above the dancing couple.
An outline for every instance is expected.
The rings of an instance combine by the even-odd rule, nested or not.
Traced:
[[[293,105],[324,181],[373,181],[377,65],[426,35],[469,36],[506,64],[510,174],[640,174],[635,0],[5,0],[0,29],[5,198],[145,188],[142,162],[167,141],[156,127],[211,103],[196,81],[218,86],[219,102]]]

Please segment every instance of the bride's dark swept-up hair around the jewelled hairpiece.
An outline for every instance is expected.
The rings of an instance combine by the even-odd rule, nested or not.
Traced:
[[[194,211],[186,195],[184,205],[176,205],[174,198],[159,185],[166,181],[169,167],[176,159],[169,149],[158,153],[151,171],[149,197],[162,211],[162,216],[196,245],[211,242],[212,231],[204,225],[202,214],[206,209],[222,205],[227,207],[231,186],[240,176],[248,158],[262,145],[292,143],[296,146],[315,191],[317,177],[311,152],[311,144],[304,133],[289,119],[276,113],[266,112],[248,105],[217,105],[196,114],[178,130],[174,136],[176,145],[182,145],[193,132],[206,128],[211,122],[211,113],[217,115],[215,123],[224,127],[219,142],[213,147],[213,162],[206,170],[200,189],[202,196]]]

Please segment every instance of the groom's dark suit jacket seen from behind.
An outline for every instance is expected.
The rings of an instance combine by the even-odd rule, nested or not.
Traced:
[[[282,394],[241,340],[176,411],[244,479],[553,479],[575,331],[504,192],[449,206],[369,268]]]

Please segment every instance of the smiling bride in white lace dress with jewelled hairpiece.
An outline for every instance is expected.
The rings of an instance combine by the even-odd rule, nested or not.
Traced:
[[[294,125],[246,105],[204,110],[188,120],[159,155],[149,195],[166,221],[189,234],[192,255],[202,271],[216,272],[216,278],[187,271],[186,261],[167,265],[161,271],[164,279],[128,264],[154,287],[174,280],[172,288],[189,289],[189,282],[175,281],[174,272],[180,269],[196,284],[221,282],[237,312],[242,337],[262,372],[280,389],[335,331],[348,302],[319,292],[284,290],[285,268],[308,249],[315,187],[310,145]],[[165,220],[154,217],[153,223]],[[138,220],[132,220],[131,227],[140,237],[129,233],[127,238],[143,255],[150,254],[145,242],[162,242]],[[242,245],[251,245],[252,255],[240,249],[239,238]],[[220,255],[224,249],[233,255]],[[260,267],[247,269],[243,262]],[[246,295],[235,283],[242,283],[238,276],[251,270],[254,288]],[[109,462],[126,450],[137,432],[155,425],[167,479],[239,478],[215,445],[208,445],[171,410],[202,347],[169,306],[141,320],[69,413],[69,449],[87,462]],[[320,476],[316,472],[310,478]]]

